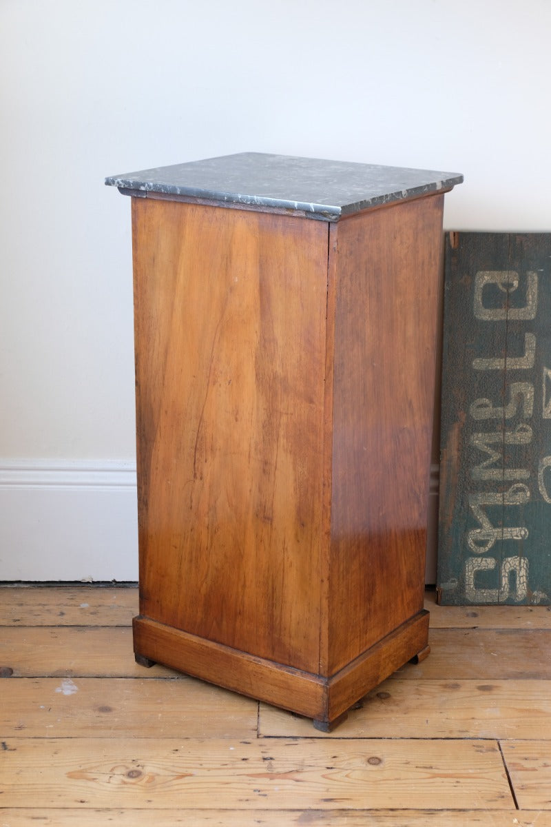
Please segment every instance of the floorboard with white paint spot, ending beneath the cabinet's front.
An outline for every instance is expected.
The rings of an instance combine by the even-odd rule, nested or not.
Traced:
[[[2,684],[0,734],[255,738],[257,716],[254,700],[192,678],[12,678]]]

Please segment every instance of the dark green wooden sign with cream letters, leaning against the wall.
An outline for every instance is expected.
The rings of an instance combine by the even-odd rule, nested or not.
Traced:
[[[551,605],[551,234],[445,249],[437,598]]]

